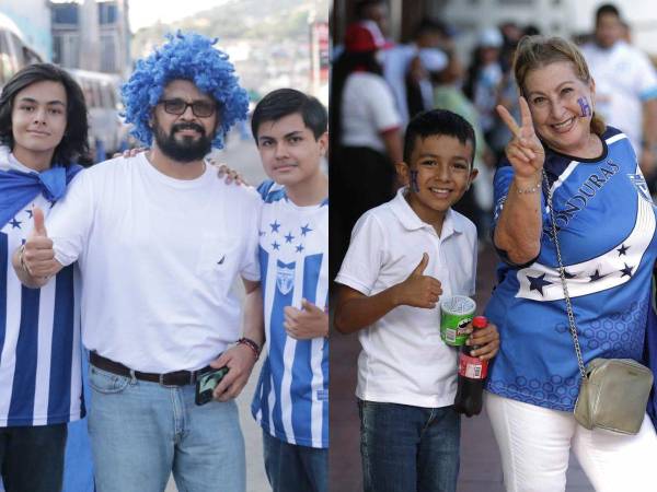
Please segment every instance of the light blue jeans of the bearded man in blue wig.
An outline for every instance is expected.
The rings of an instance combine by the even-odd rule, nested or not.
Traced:
[[[244,440],[234,401],[194,403],[194,386],[90,367],[89,434],[99,492],[244,492]]]

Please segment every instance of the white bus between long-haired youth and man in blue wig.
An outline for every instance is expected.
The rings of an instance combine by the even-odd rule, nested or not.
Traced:
[[[120,118],[120,78],[110,73],[67,69],[82,87],[89,110],[91,161],[100,162],[125,149],[127,127]]]

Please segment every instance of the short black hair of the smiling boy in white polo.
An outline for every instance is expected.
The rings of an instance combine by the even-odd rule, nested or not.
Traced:
[[[408,122],[404,136],[404,162],[411,164],[411,154],[415,150],[417,139],[424,140],[433,136],[454,137],[464,145],[472,142],[472,165],[476,147],[474,128],[464,118],[447,109],[419,113]]]

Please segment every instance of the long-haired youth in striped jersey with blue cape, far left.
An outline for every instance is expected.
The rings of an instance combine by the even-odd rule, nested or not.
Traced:
[[[48,213],[80,171],[70,164],[88,151],[78,84],[49,63],[16,73],[0,97],[0,472],[8,492],[53,492],[62,487],[67,424],[84,417],[77,274],[70,266],[27,289],[10,255],[33,207]]]

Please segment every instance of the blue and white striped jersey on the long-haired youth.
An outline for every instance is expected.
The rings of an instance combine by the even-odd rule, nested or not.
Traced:
[[[37,196],[0,229],[0,426],[46,425],[84,414],[76,267],[42,289],[18,279],[11,255],[32,231]]]

